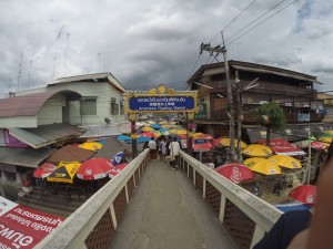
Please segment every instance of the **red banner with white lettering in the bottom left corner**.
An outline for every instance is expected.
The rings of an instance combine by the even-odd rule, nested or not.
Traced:
[[[63,220],[0,196],[0,248],[33,248]]]

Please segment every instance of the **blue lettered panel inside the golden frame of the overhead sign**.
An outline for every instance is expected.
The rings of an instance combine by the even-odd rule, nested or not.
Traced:
[[[186,112],[195,107],[191,96],[133,96],[129,108],[134,112]]]

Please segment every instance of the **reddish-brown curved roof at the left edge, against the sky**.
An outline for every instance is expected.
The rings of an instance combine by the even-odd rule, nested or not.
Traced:
[[[79,93],[73,91],[58,91],[58,92],[46,92],[46,93],[33,93],[28,95],[7,97],[0,100],[0,117],[10,116],[36,116],[42,105],[53,95],[62,94],[75,94]]]

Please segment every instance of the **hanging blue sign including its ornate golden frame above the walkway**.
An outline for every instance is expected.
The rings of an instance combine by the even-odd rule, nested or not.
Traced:
[[[128,114],[198,112],[196,91],[174,91],[160,85],[150,91],[127,92],[124,96]]]

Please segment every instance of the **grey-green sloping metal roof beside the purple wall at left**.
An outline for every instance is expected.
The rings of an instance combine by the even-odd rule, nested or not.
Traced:
[[[77,137],[85,129],[67,124],[41,125],[37,128],[9,128],[9,134],[33,148]]]

